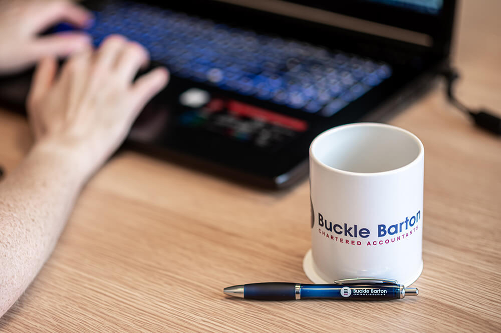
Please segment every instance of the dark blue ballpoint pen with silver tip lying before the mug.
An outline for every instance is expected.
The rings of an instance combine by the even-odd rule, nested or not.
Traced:
[[[233,285],[224,293],[234,297],[260,300],[348,299],[389,300],[417,296],[417,288],[406,288],[396,280],[357,277],[336,280],[332,284],[264,282]]]

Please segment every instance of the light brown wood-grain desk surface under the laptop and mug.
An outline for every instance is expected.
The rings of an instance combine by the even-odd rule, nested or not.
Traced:
[[[457,94],[501,111],[501,1],[463,1]],[[418,297],[391,302],[226,298],[253,281],[308,282],[305,180],[257,191],[134,152],[88,184],[33,284],[0,319],[6,331],[501,331],[501,139],[436,88],[391,123],[426,149],[424,271]],[[0,163],[30,144],[25,119],[0,111]],[[0,268],[1,269],[1,268]]]

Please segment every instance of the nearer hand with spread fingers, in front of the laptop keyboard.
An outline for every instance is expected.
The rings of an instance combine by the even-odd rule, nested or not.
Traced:
[[[94,173],[168,81],[168,71],[156,68],[132,82],[148,57],[140,44],[112,35],[98,50],[71,56],[58,76],[56,58],[44,58],[27,102],[35,145],[67,154],[84,177]]]

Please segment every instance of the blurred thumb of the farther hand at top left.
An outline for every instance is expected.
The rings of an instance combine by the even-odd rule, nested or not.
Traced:
[[[38,37],[31,42],[28,52],[33,60],[45,56],[67,56],[91,44],[91,37],[82,32],[62,32]]]

